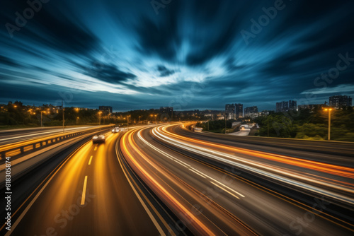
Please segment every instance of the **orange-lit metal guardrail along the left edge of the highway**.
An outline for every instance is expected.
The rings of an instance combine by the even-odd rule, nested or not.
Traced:
[[[82,134],[87,134],[87,133],[93,132],[93,131],[100,131],[102,129],[108,129],[108,127],[89,129],[86,131],[77,131],[77,132],[70,133],[70,134],[62,134],[62,135],[51,137],[51,138],[40,139],[38,141],[34,140],[33,142],[27,141],[23,145],[21,145],[21,143],[19,143],[19,146],[9,148],[9,149],[0,150],[0,154],[1,154],[0,160],[4,160],[6,158],[6,156],[13,157],[13,156],[20,155],[20,154],[23,154],[23,153],[26,153],[29,151],[36,151],[36,150],[39,150],[40,148],[44,148],[44,147],[53,145],[55,143],[59,143],[61,141],[65,141],[69,138],[74,138],[76,136],[80,136]]]

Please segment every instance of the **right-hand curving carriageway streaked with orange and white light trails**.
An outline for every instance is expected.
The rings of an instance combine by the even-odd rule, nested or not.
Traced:
[[[353,235],[353,165],[186,138],[176,127],[130,131],[120,146],[196,235]]]

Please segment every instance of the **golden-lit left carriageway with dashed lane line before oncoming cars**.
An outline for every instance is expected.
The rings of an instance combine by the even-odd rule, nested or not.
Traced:
[[[118,136],[76,150],[28,203],[11,235],[158,235],[117,160]]]

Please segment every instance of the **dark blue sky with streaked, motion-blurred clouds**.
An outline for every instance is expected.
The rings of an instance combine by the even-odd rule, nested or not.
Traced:
[[[1,1],[0,103],[274,110],[354,96],[354,1],[31,1]]]

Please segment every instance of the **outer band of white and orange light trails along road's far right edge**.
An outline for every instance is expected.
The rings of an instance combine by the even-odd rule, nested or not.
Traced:
[[[326,178],[326,181],[324,181],[324,177],[320,175],[308,175],[306,172],[292,168],[292,166],[304,167],[307,169],[336,175],[337,177],[346,177],[350,179],[354,178],[353,168],[329,165],[326,163],[318,163],[311,160],[292,158],[285,155],[264,153],[260,151],[250,151],[244,148],[235,148],[232,146],[210,143],[207,141],[200,141],[194,138],[187,138],[167,131],[166,129],[170,126],[173,125],[155,127],[152,129],[152,134],[156,138],[159,138],[161,141],[177,146],[178,148],[183,148],[193,153],[202,154],[208,158],[216,159],[224,163],[240,167],[244,170],[256,172],[259,175],[263,175],[271,179],[276,179],[280,182],[285,182],[285,184],[292,184],[295,187],[314,191],[317,194],[325,195],[329,198],[337,199],[339,201],[344,201],[350,204],[354,203],[354,199],[352,197],[354,195],[354,184],[352,182],[344,182],[333,178]],[[269,163],[262,163],[260,160],[250,160],[249,158],[246,158],[247,156],[272,160],[278,163],[285,163],[287,166],[280,167],[280,165],[277,164],[270,165]],[[301,165],[301,163],[311,164]],[[321,166],[321,168],[317,168],[317,166]],[[323,166],[324,169],[322,169]],[[314,185],[306,184],[305,182],[312,182],[313,184],[326,188],[331,187],[332,189],[344,192],[350,196],[344,196],[341,193],[335,193],[324,188],[315,187]],[[341,184],[338,184],[338,182]]]

